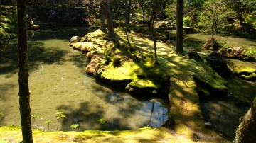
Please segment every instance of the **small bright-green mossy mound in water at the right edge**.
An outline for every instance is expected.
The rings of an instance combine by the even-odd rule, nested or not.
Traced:
[[[235,76],[238,76],[242,79],[247,79],[251,81],[256,80],[256,69],[253,69],[252,67],[247,67],[241,64],[236,64],[234,66],[233,74],[235,74]]]

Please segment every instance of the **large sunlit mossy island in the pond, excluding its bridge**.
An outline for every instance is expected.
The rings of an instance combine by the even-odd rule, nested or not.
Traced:
[[[196,81],[198,93],[203,96],[225,95],[228,93],[227,82],[213,69],[193,59],[184,59],[176,52],[166,51],[166,45],[159,43],[158,65],[152,49],[153,42],[140,37],[132,37],[130,45],[137,45],[136,51],[129,50],[126,36],[122,29],[115,29],[115,35],[109,38],[107,33],[100,30],[88,33],[82,38],[83,42],[73,44],[73,49],[90,55],[90,64],[87,73],[100,77],[112,85],[124,86],[131,94],[151,95],[158,93],[168,94],[170,77],[178,76],[181,70],[190,71],[190,78]],[[131,31],[130,35],[136,35]],[[163,52],[161,52],[163,51]],[[186,52],[188,53],[188,52]],[[105,59],[108,58],[107,64]],[[118,60],[114,60],[118,59]],[[117,61],[117,62],[116,62]],[[186,62],[183,62],[186,61]],[[168,78],[166,78],[168,77]]]

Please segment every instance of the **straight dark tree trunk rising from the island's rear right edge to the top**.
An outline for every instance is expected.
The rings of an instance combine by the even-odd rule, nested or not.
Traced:
[[[176,51],[183,52],[183,0],[177,1],[176,13]]]

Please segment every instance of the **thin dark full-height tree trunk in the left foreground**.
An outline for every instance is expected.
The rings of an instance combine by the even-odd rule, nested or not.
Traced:
[[[28,45],[26,25],[26,1],[17,1],[18,9],[18,85],[21,113],[22,142],[33,142],[31,130],[30,92],[28,88]]]

